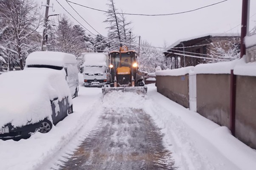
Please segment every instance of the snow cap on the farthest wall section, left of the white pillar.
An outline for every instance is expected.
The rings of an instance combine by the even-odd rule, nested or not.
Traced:
[[[182,76],[194,70],[194,66],[182,67],[172,70],[156,71],[156,76]]]

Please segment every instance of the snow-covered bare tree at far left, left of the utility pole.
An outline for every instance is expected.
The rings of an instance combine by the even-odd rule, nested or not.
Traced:
[[[3,54],[17,54],[20,68],[27,55],[40,48],[40,34],[36,31],[41,24],[37,5],[33,0],[1,0],[0,29]],[[5,28],[5,29],[3,29]],[[9,62],[9,61],[7,61]]]

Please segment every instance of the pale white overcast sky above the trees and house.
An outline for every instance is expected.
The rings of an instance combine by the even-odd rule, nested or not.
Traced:
[[[37,0],[39,2],[39,0]],[[40,0],[41,1],[41,0]],[[58,0],[77,20],[80,21],[86,28],[96,32],[90,28],[73,9],[68,6],[65,0]],[[92,8],[107,10],[108,0],[71,0]],[[115,0],[116,8],[122,9],[126,13],[139,14],[168,14],[175,12],[188,11],[202,6],[207,6],[212,3],[217,3],[222,0]],[[46,0],[43,0],[46,3]],[[51,0],[54,3],[55,12],[50,9],[49,14],[66,14],[70,17],[74,24],[77,22],[69,16],[65,10],[60,7],[56,0]],[[71,4],[88,23],[90,23],[102,35],[107,36],[106,23],[102,23],[106,16],[104,12],[94,11]],[[250,2],[250,28],[256,25],[256,1]],[[41,9],[44,12],[45,8]],[[130,16],[127,19],[131,20],[133,34],[140,35],[142,39],[147,40],[154,46],[162,47],[164,41],[168,45],[176,42],[179,39],[198,36],[208,33],[223,33],[238,26],[241,23],[242,15],[242,0],[228,0],[224,3],[203,8],[198,11],[193,11],[185,14],[177,14],[171,16]],[[52,18],[52,17],[51,17]],[[50,19],[51,19],[50,18]],[[52,18],[53,19],[53,18]],[[239,33],[240,26],[228,31],[228,33]]]

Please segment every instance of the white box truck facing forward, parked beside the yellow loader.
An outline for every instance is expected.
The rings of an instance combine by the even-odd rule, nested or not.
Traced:
[[[108,53],[82,53],[84,63],[80,73],[85,87],[102,87],[107,82]]]

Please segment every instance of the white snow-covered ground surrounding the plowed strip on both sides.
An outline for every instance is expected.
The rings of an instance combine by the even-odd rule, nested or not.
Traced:
[[[80,75],[81,77],[81,75]],[[80,82],[82,85],[82,82]],[[108,96],[109,97],[109,96]],[[0,140],[0,170],[48,170],[67,156],[97,126],[106,107],[141,108],[165,134],[163,143],[172,152],[179,170],[254,170],[256,150],[198,113],[178,105],[148,85],[147,96],[122,92],[111,100],[100,88],[80,87],[73,100],[74,113],[46,134],[14,142]]]

